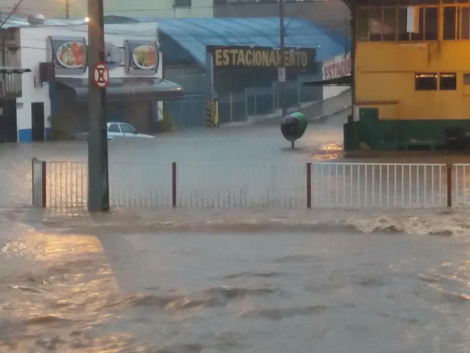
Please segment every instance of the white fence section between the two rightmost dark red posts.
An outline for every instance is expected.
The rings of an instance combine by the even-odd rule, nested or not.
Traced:
[[[444,164],[313,163],[313,207],[431,207],[447,204]]]

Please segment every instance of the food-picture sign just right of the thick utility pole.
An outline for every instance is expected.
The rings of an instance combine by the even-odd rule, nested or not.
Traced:
[[[157,42],[124,42],[126,71],[153,75],[158,69]]]

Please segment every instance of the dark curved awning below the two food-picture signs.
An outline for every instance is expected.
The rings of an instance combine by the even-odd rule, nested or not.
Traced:
[[[74,90],[78,101],[88,101],[88,78],[56,77],[56,81]],[[179,84],[158,77],[110,78],[106,87],[109,100],[166,101],[183,96]]]

